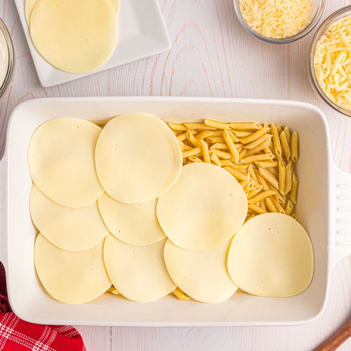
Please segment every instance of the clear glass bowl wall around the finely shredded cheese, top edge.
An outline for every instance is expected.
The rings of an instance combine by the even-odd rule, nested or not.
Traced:
[[[243,16],[241,15],[240,11],[240,0],[234,0],[234,10],[237,15],[237,18],[240,22],[240,24],[246,29],[247,32],[252,34],[255,38],[261,39],[265,42],[273,43],[273,44],[286,44],[290,43],[293,41],[296,41],[298,39],[303,38],[305,35],[310,33],[312,29],[317,25],[318,21],[320,20],[320,17],[322,16],[323,10],[324,10],[324,5],[325,5],[325,0],[314,0],[313,1],[313,6],[314,6],[314,12],[311,18],[310,23],[304,27],[300,32],[298,32],[295,35],[292,35],[291,37],[287,38],[267,38],[264,37],[263,35],[260,35],[256,32],[254,32],[245,22]]]

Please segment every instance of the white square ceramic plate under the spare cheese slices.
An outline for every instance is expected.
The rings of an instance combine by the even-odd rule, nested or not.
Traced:
[[[43,87],[50,87],[105,71],[127,62],[159,54],[171,48],[171,41],[157,0],[120,0],[118,40],[107,62],[96,71],[73,74],[47,62],[35,48],[24,12],[25,0],[15,0],[35,69]]]

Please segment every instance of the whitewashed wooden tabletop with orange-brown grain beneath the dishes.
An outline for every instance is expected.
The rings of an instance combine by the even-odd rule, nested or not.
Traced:
[[[140,0],[146,1],[146,0]],[[314,31],[293,44],[265,44],[239,25],[233,0],[159,0],[172,41],[169,52],[42,88],[12,0],[0,1],[15,47],[16,72],[0,104],[0,158],[8,117],[22,101],[42,97],[183,95],[289,99],[310,102],[327,116],[332,155],[351,172],[351,119],[332,112],[307,78]],[[346,0],[327,0],[323,19]],[[334,268],[322,316],[297,327],[136,328],[78,326],[88,350],[310,351],[351,318],[351,258]],[[346,342],[339,350],[351,350]]]

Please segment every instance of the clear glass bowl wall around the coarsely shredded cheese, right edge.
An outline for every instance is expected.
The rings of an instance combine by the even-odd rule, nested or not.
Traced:
[[[327,28],[336,20],[342,17],[346,17],[351,14],[351,5],[340,8],[338,11],[332,13],[318,28],[316,34],[314,34],[311,48],[310,48],[310,57],[309,57],[309,79],[312,84],[314,92],[318,97],[333,110],[343,113],[346,116],[351,117],[351,111],[346,110],[343,107],[338,106],[335,102],[331,101],[327,95],[323,92],[322,88],[319,86],[316,73],[314,72],[314,52],[316,51],[316,45],[319,38],[326,32]]]

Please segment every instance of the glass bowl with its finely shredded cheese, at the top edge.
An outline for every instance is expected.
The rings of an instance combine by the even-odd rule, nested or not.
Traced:
[[[241,25],[254,37],[285,44],[308,34],[324,10],[325,0],[234,0]]]

